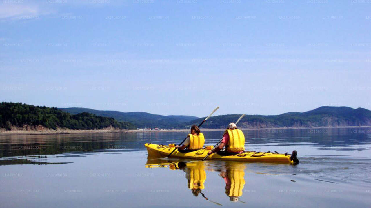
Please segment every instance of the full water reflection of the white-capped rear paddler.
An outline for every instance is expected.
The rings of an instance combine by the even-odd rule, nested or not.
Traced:
[[[229,201],[240,201],[239,197],[242,196],[242,190],[246,183],[244,169],[245,164],[243,163],[227,163],[225,169],[221,170],[219,174],[226,183],[226,195],[229,197]]]

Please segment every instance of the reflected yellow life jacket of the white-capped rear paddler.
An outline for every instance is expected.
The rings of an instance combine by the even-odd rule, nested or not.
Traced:
[[[240,197],[242,196],[243,192],[242,189],[245,185],[245,172],[243,169],[232,169],[227,170],[227,176],[231,181],[231,188],[228,190],[226,189],[226,194],[229,197]]]

